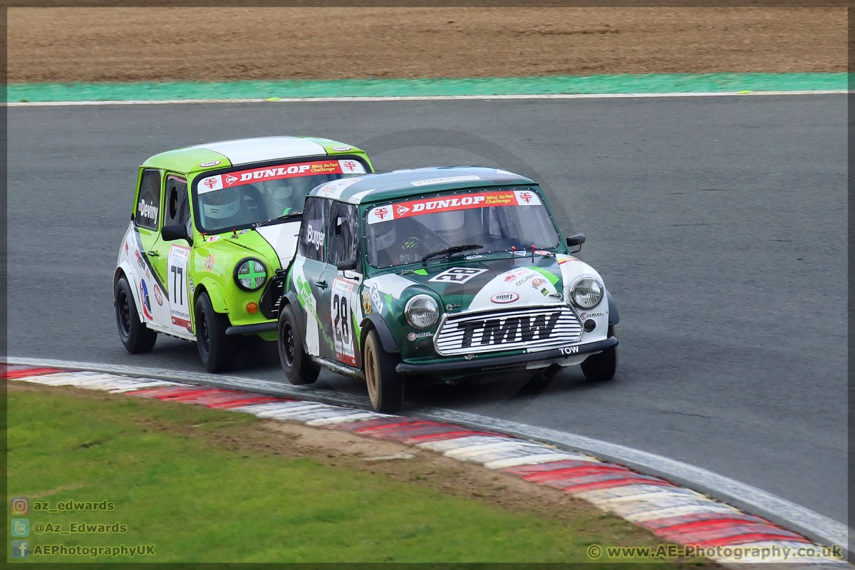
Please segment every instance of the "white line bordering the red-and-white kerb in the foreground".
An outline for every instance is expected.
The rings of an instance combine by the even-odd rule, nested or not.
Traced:
[[[269,380],[250,379],[239,376],[222,376],[208,373],[180,373],[162,368],[130,367],[121,365],[102,364],[97,362],[62,361],[48,358],[17,358],[9,356],[5,359],[9,364],[24,364],[37,367],[72,368],[91,370],[102,373],[119,373],[145,378],[169,379],[174,382],[190,382],[195,384],[217,385],[220,387],[243,388],[252,391],[275,394],[279,396],[294,396],[305,400],[323,399],[327,402],[338,400],[338,403],[348,405],[365,405],[364,398],[338,394],[332,391],[305,389],[298,386],[280,384]],[[280,404],[274,404],[279,407]],[[278,409],[291,408],[289,405]],[[665,479],[686,486],[694,491],[708,494],[722,502],[732,504],[749,513],[758,514],[771,522],[785,526],[806,537],[823,544],[839,544],[843,549],[848,548],[848,529],[846,525],[829,519],[823,514],[802,507],[794,502],[777,497],[752,485],[746,485],[735,479],[730,479],[718,473],[713,473],[703,467],[695,467],[682,461],[675,461],[662,455],[647,451],[635,450],[625,445],[611,444],[594,438],[587,438],[575,433],[559,432],[545,427],[529,426],[515,421],[500,420],[484,415],[469,414],[444,408],[419,408],[410,410],[416,417],[448,421],[454,424],[469,426],[476,429],[504,432],[522,438],[534,439],[546,444],[557,445],[564,450],[573,450],[595,455],[607,461],[615,461],[632,467],[641,473],[658,475]],[[472,436],[459,438],[449,442],[432,442],[422,444],[422,447],[438,451],[447,451],[466,444],[504,443],[501,438],[491,436]],[[560,450],[555,450],[560,452]],[[525,458],[521,458],[525,461]],[[500,460],[501,461],[501,460]],[[506,460],[507,461],[507,460]],[[514,462],[513,460],[510,460]],[[528,462],[528,461],[525,461]],[[488,466],[492,467],[492,466]],[[504,464],[502,467],[507,467]],[[691,509],[690,509],[691,510]],[[855,531],[853,531],[855,532]]]

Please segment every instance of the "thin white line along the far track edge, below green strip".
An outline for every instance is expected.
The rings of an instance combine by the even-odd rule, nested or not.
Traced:
[[[492,99],[635,99],[648,97],[748,97],[757,95],[844,95],[845,89],[817,91],[739,91],[699,93],[555,93],[543,95],[423,95],[401,97],[247,97],[234,99],[139,99],[133,101],[35,101],[5,103],[7,107],[73,107],[80,105],[173,105],[177,103],[339,103],[363,101],[486,101]]]

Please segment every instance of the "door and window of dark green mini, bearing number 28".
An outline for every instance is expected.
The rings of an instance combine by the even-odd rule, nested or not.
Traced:
[[[362,256],[360,252],[359,219],[356,206],[334,202],[327,223],[327,267],[321,275],[329,287],[321,294],[329,310],[330,337],[333,352],[330,358],[347,366],[360,367],[362,358],[355,330],[355,321],[361,318],[359,309],[359,284],[362,283]],[[353,269],[337,267],[339,262],[356,261]]]

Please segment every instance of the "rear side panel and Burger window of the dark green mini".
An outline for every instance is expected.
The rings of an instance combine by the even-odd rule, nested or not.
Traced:
[[[330,337],[329,305],[323,303],[331,283],[324,280],[327,268],[327,220],[330,201],[308,197],[303,210],[297,252],[292,266],[292,279],[302,310],[304,349],[313,356],[329,358],[334,355]]]

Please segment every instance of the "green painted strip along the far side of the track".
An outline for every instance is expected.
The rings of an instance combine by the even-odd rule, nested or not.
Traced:
[[[270,97],[430,97],[571,93],[845,90],[846,73],[673,73],[472,79],[335,79],[227,83],[20,83],[7,101],[167,101]]]

